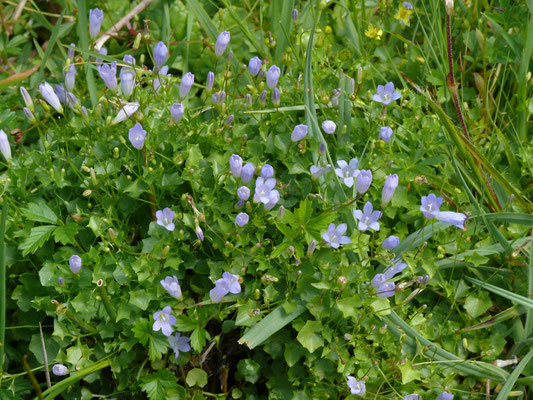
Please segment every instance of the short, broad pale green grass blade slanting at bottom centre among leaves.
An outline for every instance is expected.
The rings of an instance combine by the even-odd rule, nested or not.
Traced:
[[[283,306],[279,306],[246,332],[239,339],[239,344],[246,343],[250,349],[259,346],[293,319],[302,315],[306,310],[307,308],[302,303],[298,303],[296,310],[287,314]]]

